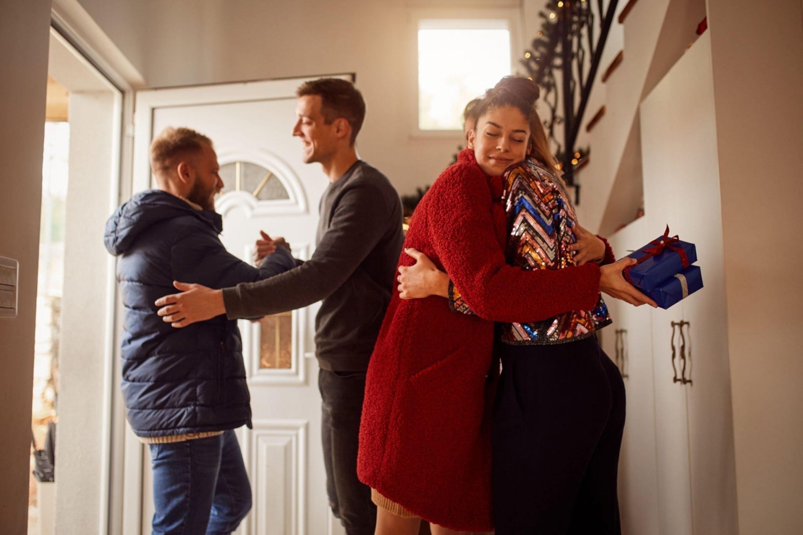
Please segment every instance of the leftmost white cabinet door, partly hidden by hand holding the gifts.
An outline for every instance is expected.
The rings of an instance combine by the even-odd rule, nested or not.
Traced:
[[[644,218],[609,237],[617,258],[653,239]],[[622,533],[658,533],[652,317],[650,308],[606,297],[613,325],[601,331],[605,353],[617,362],[627,391],[627,419],[619,460]]]

